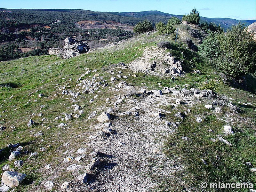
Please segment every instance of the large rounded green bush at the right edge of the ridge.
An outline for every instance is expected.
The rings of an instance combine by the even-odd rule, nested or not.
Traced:
[[[256,42],[244,25],[232,26],[227,33],[212,33],[199,46],[199,52],[233,78],[256,70]]]

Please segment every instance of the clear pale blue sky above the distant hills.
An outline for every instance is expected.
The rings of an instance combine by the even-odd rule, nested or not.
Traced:
[[[157,10],[184,15],[195,7],[200,16],[256,19],[256,0],[0,0],[0,8],[85,9],[109,12]]]

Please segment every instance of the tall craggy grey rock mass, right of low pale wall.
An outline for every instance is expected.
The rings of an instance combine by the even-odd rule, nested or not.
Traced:
[[[89,51],[89,45],[83,41],[76,41],[71,37],[67,37],[65,39],[64,45],[64,59],[68,59],[70,57],[78,56],[79,54],[83,54]]]

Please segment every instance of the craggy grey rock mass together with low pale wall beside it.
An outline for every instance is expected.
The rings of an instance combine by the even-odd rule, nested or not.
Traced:
[[[50,48],[50,55],[59,55],[63,56],[64,59],[68,59],[71,57],[76,57],[79,54],[83,54],[89,51],[89,45],[84,41],[76,41],[71,37],[67,37],[65,39],[64,49],[60,48]]]

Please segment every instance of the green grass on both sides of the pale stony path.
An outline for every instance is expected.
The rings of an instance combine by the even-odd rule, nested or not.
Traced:
[[[97,73],[108,80],[111,75],[105,71],[106,69],[110,69],[119,62],[129,63],[142,54],[144,47],[156,46],[159,41],[163,40],[169,40],[168,36],[159,37],[157,34],[153,34],[147,37],[146,35],[142,35],[132,41],[129,40],[123,44],[119,44],[118,48],[100,49],[68,60],[62,60],[56,56],[39,56],[1,62],[0,125],[7,127],[7,129],[0,134],[0,149],[4,148],[4,152],[1,154],[0,166],[9,163],[10,149],[7,148],[7,145],[10,143],[19,142],[29,152],[39,152],[38,158],[27,160],[28,155],[19,158],[23,159],[25,164],[21,168],[15,169],[28,175],[26,182],[18,188],[19,191],[30,189],[29,184],[32,181],[36,181],[37,185],[44,181],[45,178],[48,178],[40,170],[49,163],[53,166],[58,166],[60,154],[57,148],[59,146],[67,142],[72,142],[74,146],[77,144],[86,145],[83,138],[77,138],[74,141],[73,137],[81,133],[85,134],[86,137],[87,132],[92,131],[90,129],[91,125],[94,124],[93,121],[87,120],[88,114],[99,108],[104,103],[105,98],[114,96],[109,95],[105,91],[99,92],[97,94],[102,99],[91,104],[88,101],[92,99],[92,95],[83,95],[83,99],[76,102],[76,104],[84,107],[85,114],[79,120],[72,120],[71,125],[63,129],[56,127],[56,125],[60,124],[60,121],[55,121],[54,118],[66,111],[72,112],[73,108],[70,109],[70,106],[74,103],[67,100],[65,96],[59,95],[54,97],[53,95],[55,93],[61,92],[60,90],[56,91],[56,89],[64,85],[68,87],[68,90],[75,89],[77,84],[76,79],[81,74],[84,74],[85,68],[92,70],[97,68]],[[231,87],[221,83],[220,76],[215,74],[214,69],[196,53],[190,52],[174,43],[172,43],[172,49],[167,51],[172,52],[179,60],[184,59],[184,65],[186,65],[184,67],[187,72],[196,68],[202,71],[202,75],[187,73],[185,77],[177,77],[176,80],[171,80],[167,77],[148,76],[137,73],[137,78],[128,78],[126,82],[138,86],[141,86],[141,83],[146,83],[149,89],[158,89],[158,84],[161,84],[163,87],[189,84],[189,87],[194,88],[214,88],[217,93],[224,94],[228,98],[232,97],[234,99],[232,102],[239,106],[242,112],[232,115],[229,109],[224,107],[223,113],[217,118],[213,111],[204,108],[204,104],[208,103],[201,103],[193,108],[192,111],[194,112],[184,119],[177,132],[170,136],[170,138],[166,138],[165,145],[166,153],[170,158],[174,158],[174,156],[176,158],[178,156],[185,165],[184,170],[177,172],[177,180],[186,180],[186,182],[173,182],[168,178],[163,178],[163,183],[156,188],[156,191],[173,191],[176,188],[177,190],[182,190],[183,187],[188,188],[189,186],[198,188],[198,184],[201,181],[254,182],[255,174],[248,171],[248,168],[244,166],[244,162],[250,161],[253,165],[256,164],[254,153],[256,148],[255,124],[252,123],[256,122],[255,95],[252,97],[252,93],[241,89],[231,91]],[[102,67],[104,67],[104,70],[101,70]],[[128,70],[124,71],[123,75],[128,76],[128,73],[131,72]],[[62,78],[65,78],[65,80],[62,80]],[[68,81],[68,78],[72,78],[73,80]],[[215,83],[215,80],[218,83]],[[201,86],[205,81],[213,83]],[[35,92],[36,90],[40,91],[28,96],[30,92]],[[39,93],[44,93],[46,97],[38,98]],[[10,99],[12,95],[14,97]],[[32,102],[29,102],[29,100]],[[34,100],[37,101],[34,102]],[[251,102],[253,106],[241,105],[241,103],[248,102]],[[45,105],[45,107],[40,109],[40,105]],[[17,110],[14,110],[15,108]],[[2,113],[4,110],[6,112]],[[44,116],[33,117],[33,120],[38,122],[39,125],[28,128],[27,122],[30,119],[29,115],[32,113],[37,115],[39,112],[42,112]],[[226,137],[227,140],[234,143],[230,148],[223,147],[219,142],[212,143],[208,140],[222,132],[222,126],[226,124],[225,118],[227,114],[231,117],[237,116],[237,119],[241,117],[248,119],[241,121],[243,122],[242,124],[235,119],[235,127],[239,131],[232,136]],[[204,122],[202,124],[195,123],[195,115],[205,116]],[[46,118],[46,122],[42,123],[42,118]],[[168,120],[168,117],[166,119]],[[44,126],[41,126],[41,124],[44,124]],[[15,126],[17,129],[12,132],[10,129],[11,126]],[[53,128],[47,130],[46,128],[48,126],[52,126]],[[214,130],[214,135],[207,132],[207,129]],[[44,136],[41,138],[31,136],[38,131],[43,131]],[[181,136],[187,136],[191,140],[188,143],[184,142],[180,140]],[[52,145],[52,148],[49,148],[47,152],[39,151],[40,147],[46,147],[47,145]],[[220,162],[214,160],[216,154],[221,157]],[[208,166],[200,162],[202,158],[208,161]],[[13,163],[11,165],[13,166]],[[73,177],[72,175],[64,175],[63,178],[59,178],[59,182],[61,183],[68,179],[71,180]]]

